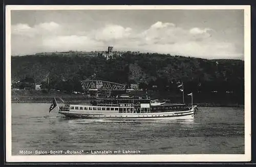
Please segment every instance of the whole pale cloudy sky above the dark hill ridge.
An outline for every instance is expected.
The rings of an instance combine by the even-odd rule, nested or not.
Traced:
[[[12,10],[11,54],[150,52],[244,59],[243,10]]]

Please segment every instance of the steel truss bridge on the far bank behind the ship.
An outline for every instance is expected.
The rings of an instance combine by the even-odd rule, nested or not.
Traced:
[[[81,84],[84,90],[125,90],[125,85],[108,81],[89,80]]]

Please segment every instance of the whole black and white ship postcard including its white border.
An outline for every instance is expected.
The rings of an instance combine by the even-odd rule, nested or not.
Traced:
[[[7,6],[7,162],[250,161],[250,6]]]

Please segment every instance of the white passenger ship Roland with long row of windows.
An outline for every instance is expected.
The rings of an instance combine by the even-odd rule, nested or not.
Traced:
[[[193,119],[197,106],[185,104],[151,104],[150,99],[97,99],[91,105],[58,106],[58,113],[73,118],[105,120]],[[54,106],[54,107],[55,107]],[[51,110],[51,108],[50,108]]]

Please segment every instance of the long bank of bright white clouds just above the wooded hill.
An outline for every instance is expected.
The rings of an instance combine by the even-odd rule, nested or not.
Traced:
[[[235,43],[220,40],[211,28],[183,28],[172,22],[157,21],[145,30],[108,24],[90,31],[70,31],[56,22],[42,22],[33,27],[19,23],[12,26],[13,53],[40,51],[115,50],[158,52],[201,58],[242,57]],[[18,43],[29,38],[30,45]],[[22,40],[23,39],[23,40]],[[13,44],[12,43],[12,44]],[[31,47],[31,48],[29,48]]]

